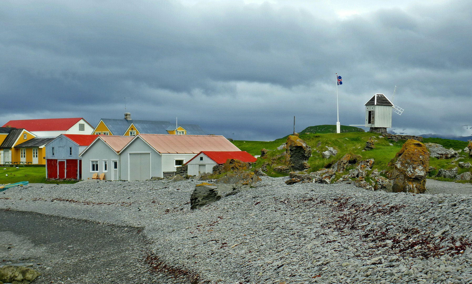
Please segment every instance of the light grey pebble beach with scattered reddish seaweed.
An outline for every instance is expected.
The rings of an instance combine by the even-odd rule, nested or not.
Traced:
[[[195,210],[201,181],[33,185],[0,208],[144,227],[168,283],[472,283],[472,195],[285,180]]]

